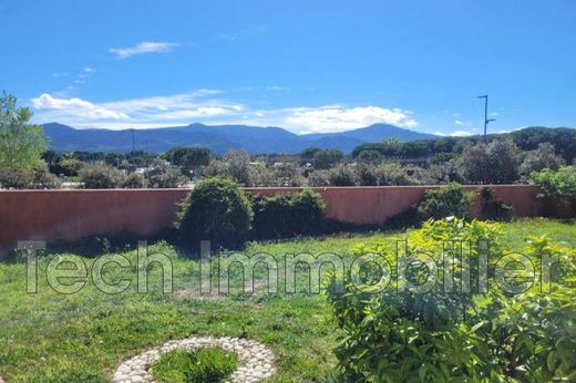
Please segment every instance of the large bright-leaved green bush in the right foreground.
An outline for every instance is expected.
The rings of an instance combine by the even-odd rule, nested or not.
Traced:
[[[462,219],[430,220],[408,234],[408,255],[424,261],[426,255],[459,257],[459,248],[445,241],[487,240],[488,278],[504,253],[497,224]],[[547,382],[576,377],[576,301],[572,298],[574,272],[553,283],[552,293],[534,286],[511,296],[491,284],[477,289],[479,249],[470,249],[471,292],[463,292],[462,265],[456,261],[454,291],[444,291],[443,268],[438,281],[422,293],[405,289],[398,280],[395,244],[359,245],[352,255],[379,255],[390,263],[392,282],[377,289],[371,272],[359,273],[366,286],[332,275],[327,298],[344,335],[336,349],[343,381],[349,382]],[[545,238],[531,242],[527,256],[537,266],[541,256],[559,253],[566,269],[574,271],[576,251],[555,246]],[[439,262],[440,258],[435,261]],[[368,271],[373,271],[368,268]],[[538,269],[538,267],[536,267]],[[553,269],[554,270],[554,269]],[[556,270],[558,271],[558,270]],[[553,278],[556,281],[559,272]],[[414,267],[407,278],[422,283],[428,272]],[[539,280],[536,278],[535,280]],[[353,283],[352,283],[353,281]],[[372,286],[370,286],[372,284]]]

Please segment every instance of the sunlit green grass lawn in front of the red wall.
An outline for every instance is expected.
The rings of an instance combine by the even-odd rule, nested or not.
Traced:
[[[522,251],[527,236],[547,234],[552,239],[576,246],[576,226],[546,219],[518,220],[503,225],[508,249]],[[245,253],[267,252],[277,259],[285,253],[335,252],[349,255],[360,242],[382,242],[402,234],[301,239],[277,244],[250,244]],[[333,381],[332,349],[339,333],[322,296],[306,293],[299,279],[296,294],[254,294],[239,291],[240,272],[233,272],[229,296],[198,294],[198,262],[178,256],[164,244],[151,246],[168,255],[174,267],[174,293],[160,289],[161,270],[153,268],[148,293],[135,287],[106,294],[92,282],[73,294],[49,288],[45,267],[39,262],[38,293],[27,293],[24,263],[0,265],[0,376],[10,382],[102,382],[123,359],[192,334],[248,337],[267,344],[278,356],[272,382]],[[134,260],[135,251],[125,256]],[[90,266],[94,259],[86,258]],[[281,279],[282,272],[280,272]],[[106,269],[105,279],[134,281],[136,266]],[[265,270],[257,268],[256,278]],[[300,276],[301,277],[301,276]]]

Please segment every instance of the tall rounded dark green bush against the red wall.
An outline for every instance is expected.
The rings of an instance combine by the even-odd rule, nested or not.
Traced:
[[[228,178],[206,178],[182,204],[176,227],[187,244],[210,240],[215,248],[232,249],[243,245],[253,216],[250,200],[238,184]]]

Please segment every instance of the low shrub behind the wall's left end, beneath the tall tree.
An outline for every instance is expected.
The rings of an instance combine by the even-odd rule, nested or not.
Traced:
[[[37,168],[0,168],[0,188],[58,189],[60,179],[45,166]]]

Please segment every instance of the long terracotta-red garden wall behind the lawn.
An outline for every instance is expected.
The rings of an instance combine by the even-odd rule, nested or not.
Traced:
[[[327,215],[352,224],[379,224],[407,209],[434,186],[315,188]],[[467,187],[474,189],[474,187]],[[544,211],[541,190],[527,185],[492,186],[518,217]],[[246,188],[261,195],[299,188]],[[171,227],[186,189],[0,190],[0,248],[17,240],[74,240],[104,232],[151,236]]]

